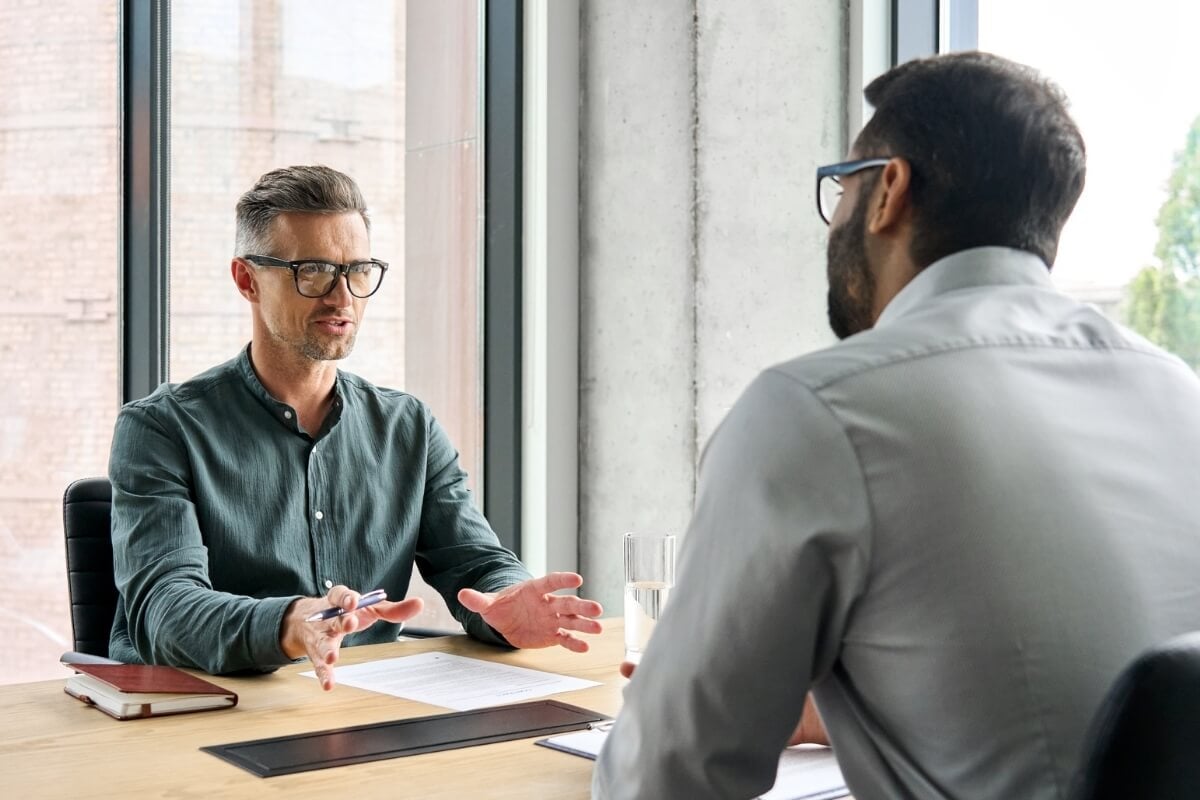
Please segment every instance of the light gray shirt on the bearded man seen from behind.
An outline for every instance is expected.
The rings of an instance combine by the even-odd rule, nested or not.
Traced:
[[[1037,258],[930,265],[709,443],[598,798],[770,788],[812,688],[874,798],[1063,798],[1141,649],[1200,628],[1200,381]]]

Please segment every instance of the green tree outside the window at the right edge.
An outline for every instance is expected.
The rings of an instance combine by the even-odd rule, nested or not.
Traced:
[[[1159,264],[1126,287],[1126,323],[1200,371],[1200,116],[1175,157],[1157,223]]]

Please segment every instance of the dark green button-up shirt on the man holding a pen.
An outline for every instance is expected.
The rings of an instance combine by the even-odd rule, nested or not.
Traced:
[[[292,601],[346,584],[400,600],[413,564],[467,631],[504,644],[458,589],[529,578],[472,501],[458,453],[412,395],[338,372],[316,437],[248,348],[121,409],[108,467],[120,599],[109,655],[209,673],[290,660]],[[344,645],[395,640],[376,622]]]

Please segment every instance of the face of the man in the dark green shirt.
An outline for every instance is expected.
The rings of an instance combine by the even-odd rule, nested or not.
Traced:
[[[313,259],[349,264],[371,257],[366,224],[356,212],[280,215],[271,228],[274,252],[287,261]],[[344,359],[354,349],[367,301],[340,276],[324,297],[296,291],[289,270],[258,267],[259,313],[271,339],[312,361]]]

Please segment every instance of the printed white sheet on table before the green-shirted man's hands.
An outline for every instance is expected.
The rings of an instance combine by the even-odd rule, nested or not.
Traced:
[[[301,673],[316,678],[312,670]],[[510,667],[446,652],[422,652],[337,668],[337,682],[456,711],[572,692],[594,680]]]

